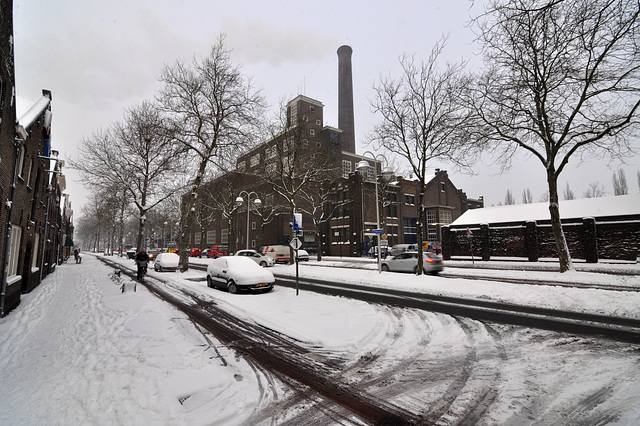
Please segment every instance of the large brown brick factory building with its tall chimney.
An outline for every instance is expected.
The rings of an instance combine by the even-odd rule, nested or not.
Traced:
[[[423,240],[439,248],[442,225],[468,209],[483,207],[482,197],[468,199],[445,170],[436,169],[428,180],[421,209],[416,206],[417,181],[394,176],[389,182],[379,179],[379,185],[375,184],[382,164],[355,152],[351,55],[349,46],[338,49],[339,128],[324,125],[320,101],[304,95],[292,99],[287,104],[286,122],[278,132],[240,155],[234,172],[204,186],[196,213],[199,225],[192,229],[192,247],[225,245],[235,251],[288,244],[291,213],[297,210],[303,218],[303,247],[311,252],[367,254],[375,241],[371,230],[378,223],[388,245],[415,243],[419,211],[427,223]],[[363,159],[376,170],[358,172],[357,164]],[[318,173],[309,178],[311,183],[296,187],[313,171]],[[283,183],[289,172],[289,183]],[[236,204],[239,195],[243,195],[243,202]],[[260,206],[251,204],[252,196],[260,199]]]

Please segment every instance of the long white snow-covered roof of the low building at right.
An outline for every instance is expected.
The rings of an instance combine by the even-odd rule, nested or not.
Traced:
[[[560,218],[640,215],[640,194],[560,201]],[[467,210],[451,226],[549,220],[549,203]]]

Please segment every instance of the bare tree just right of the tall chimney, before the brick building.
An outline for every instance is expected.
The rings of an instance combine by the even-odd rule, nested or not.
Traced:
[[[428,164],[442,159],[467,167],[473,157],[463,152],[463,148],[470,150],[466,132],[470,115],[468,104],[461,101],[470,84],[464,63],[439,66],[446,41],[446,37],[439,40],[421,64],[413,56],[402,56],[402,76],[382,79],[374,86],[371,102],[373,112],[381,116],[373,130],[373,143],[406,160],[420,182],[416,203],[419,247]],[[422,250],[418,251],[417,274],[422,274]]]

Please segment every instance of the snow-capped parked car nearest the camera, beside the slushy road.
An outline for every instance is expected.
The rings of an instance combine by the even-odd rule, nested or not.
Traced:
[[[226,288],[229,293],[240,290],[268,292],[273,289],[273,274],[245,256],[222,256],[207,267],[207,286]]]

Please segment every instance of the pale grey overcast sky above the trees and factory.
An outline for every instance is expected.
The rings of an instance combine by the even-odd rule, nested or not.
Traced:
[[[348,44],[353,48],[356,142],[361,154],[370,149],[364,142],[376,121],[369,103],[372,86],[381,76],[400,75],[400,55],[407,52],[426,60],[433,44],[447,33],[449,60],[481,64],[466,25],[481,3],[14,0],[17,93],[36,98],[43,88],[52,91],[52,147],[62,158],[77,159],[83,137],[154,96],[164,64],[206,55],[216,37],[226,33],[232,58],[271,105],[305,94],[325,105],[325,124],[337,127],[336,51]],[[629,192],[637,193],[640,157],[628,163],[623,168]],[[477,165],[475,176],[456,173],[444,163],[431,166],[449,170],[454,185],[471,198],[483,195],[487,206],[504,201],[507,189],[518,202],[525,188],[534,201],[546,191],[544,169],[534,159],[522,159],[503,175],[489,159]],[[599,182],[613,195],[613,170],[619,166],[602,159],[571,164],[560,187],[568,182],[581,197],[589,183]],[[86,189],[75,172],[67,169],[65,174],[77,218]]]

